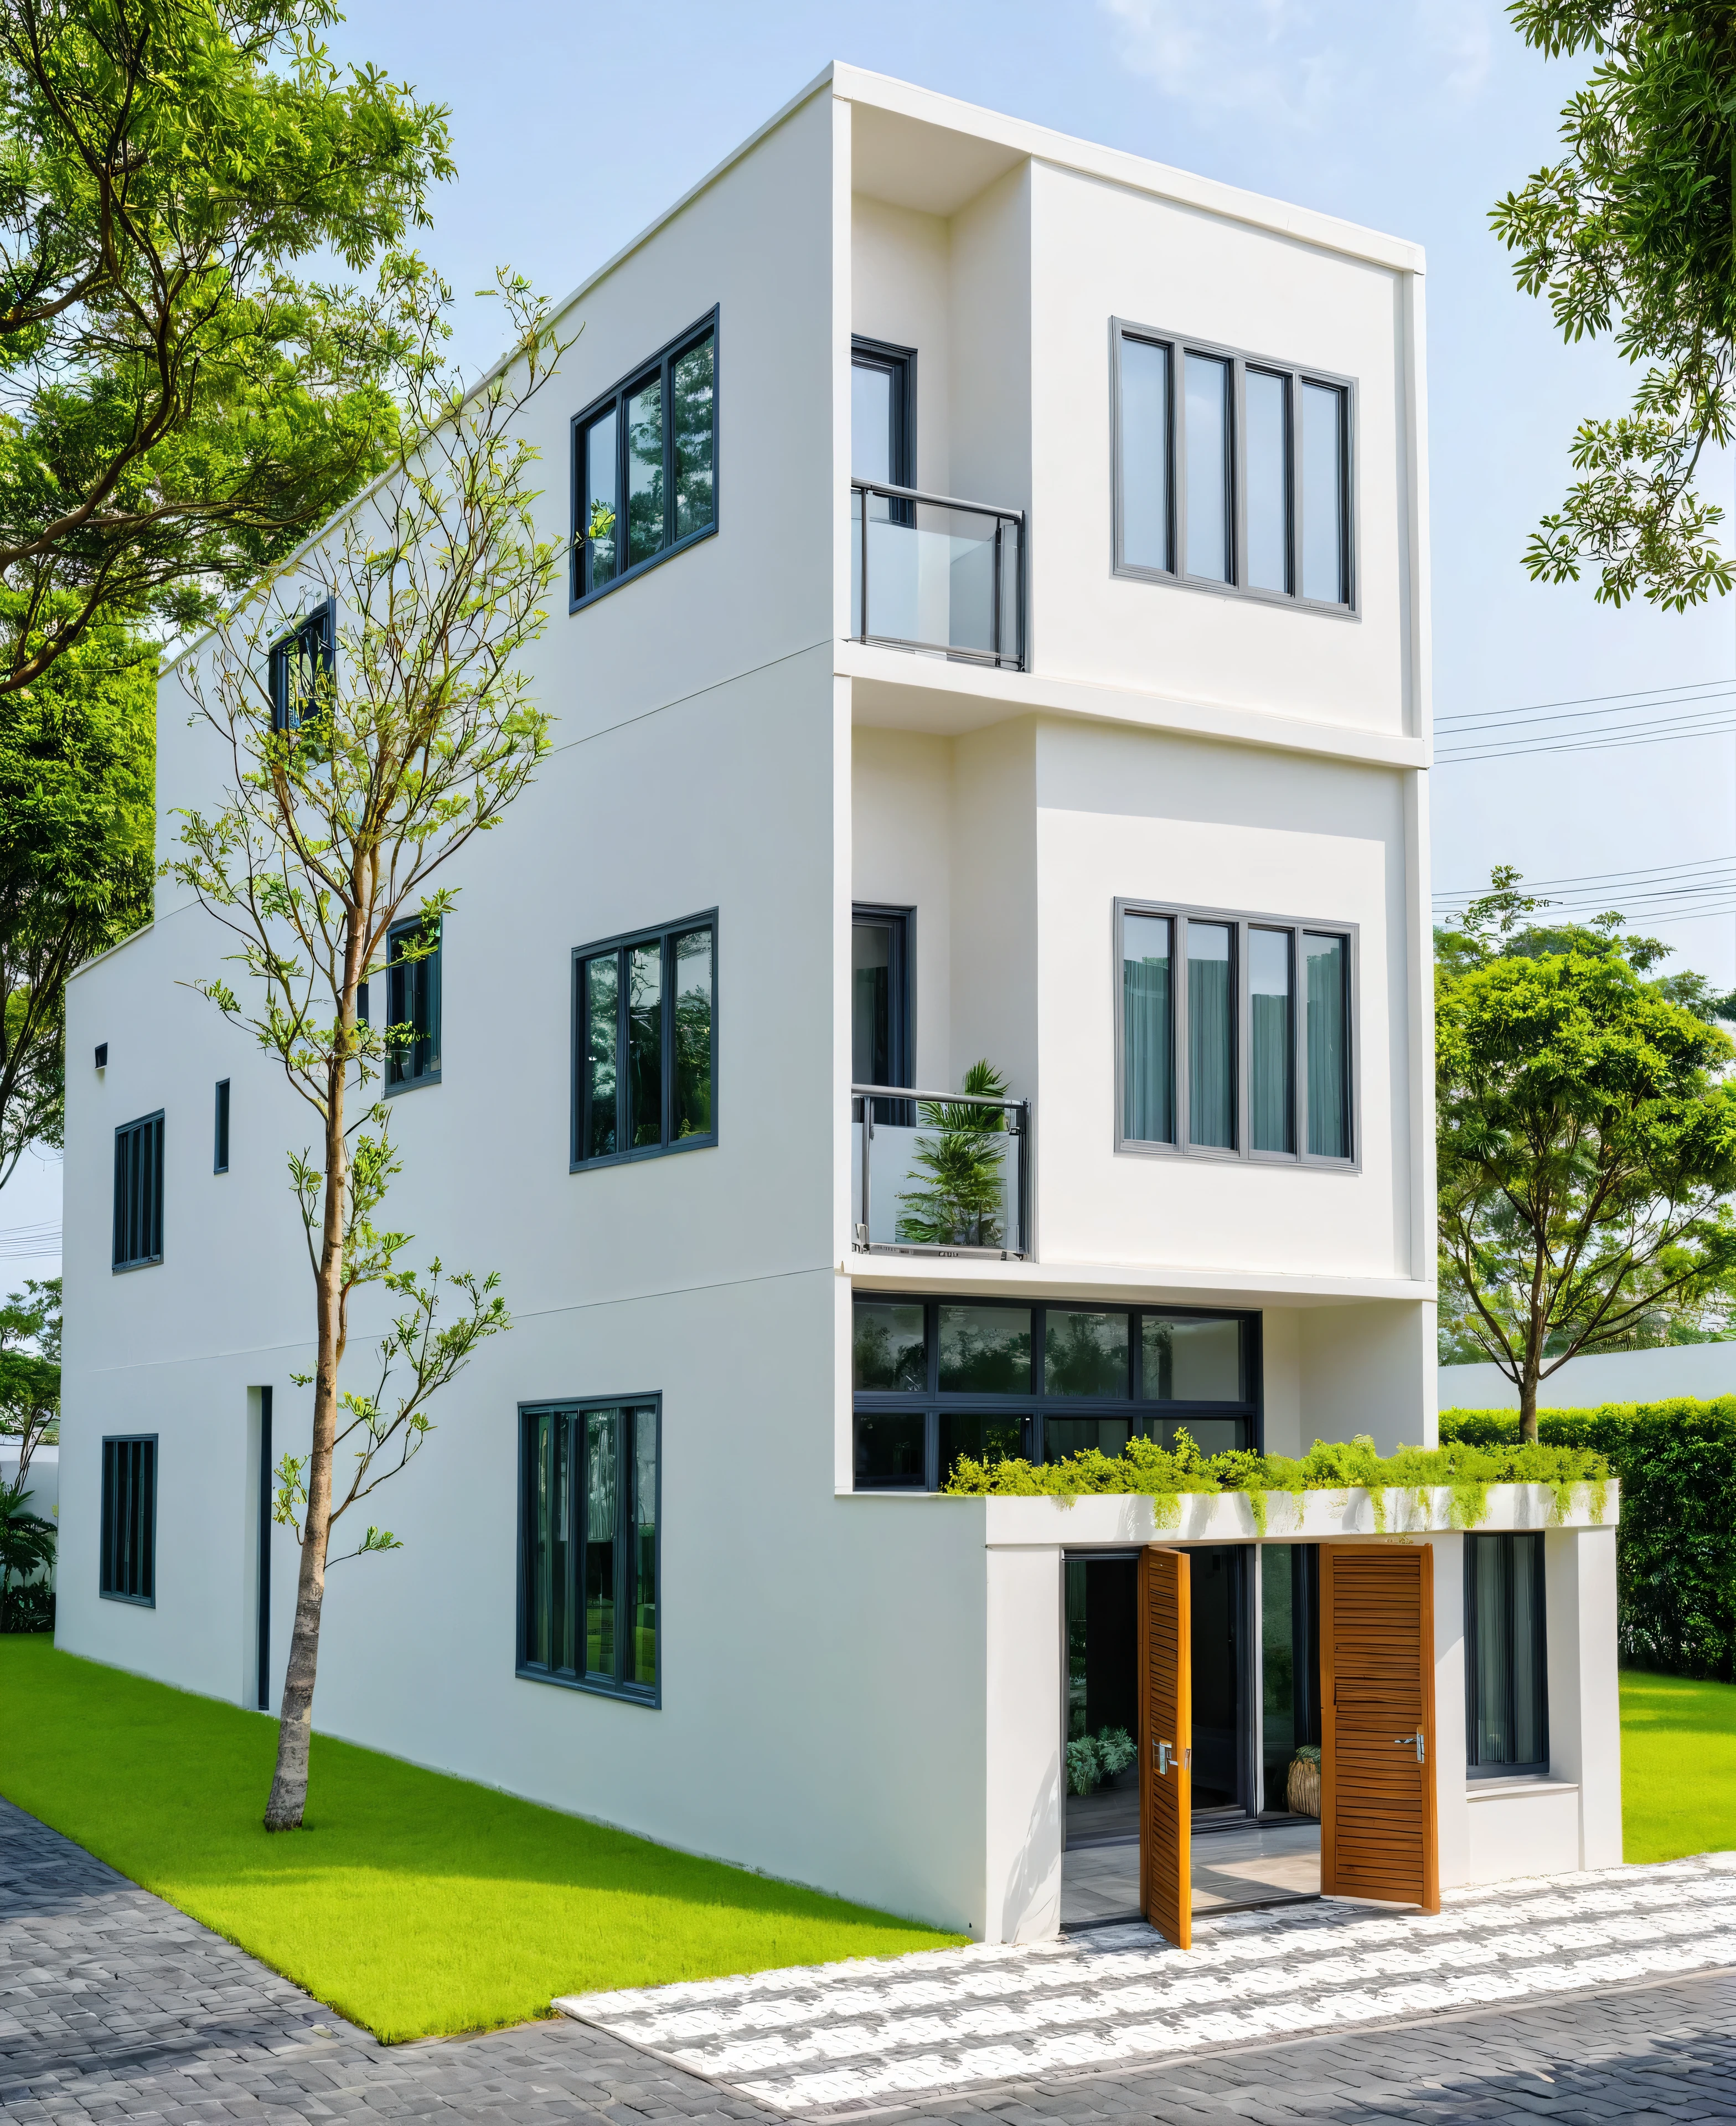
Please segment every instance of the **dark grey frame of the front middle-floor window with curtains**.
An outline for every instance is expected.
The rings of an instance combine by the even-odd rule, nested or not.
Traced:
[[[1154,1137],[1128,1137],[1124,1133],[1126,1123],[1126,1014],[1122,1008],[1122,931],[1126,916],[1160,916],[1171,923],[1171,1082],[1175,1099],[1175,1142],[1162,1144]],[[1179,980],[1175,969],[1186,969],[1186,938],[1188,923],[1215,923],[1232,925],[1235,929],[1235,1027],[1232,1027],[1232,1052],[1235,1052],[1235,1118],[1237,1118],[1237,1142],[1232,1146],[1224,1144],[1190,1144],[1188,1142],[1188,984]],[[1262,931],[1288,931],[1292,938],[1290,946],[1290,982],[1292,982],[1292,1008],[1290,1008],[1290,1042],[1292,1042],[1292,1078],[1290,1078],[1290,1103],[1292,1103],[1292,1127],[1296,1150],[1292,1152],[1271,1152],[1254,1150],[1249,1129],[1249,1084],[1247,1084],[1247,1059],[1249,1059],[1249,952],[1247,933],[1252,929]],[[1345,974],[1347,991],[1345,997],[1345,1091],[1349,1099],[1349,1159],[1339,1159],[1330,1152],[1311,1152],[1307,1148],[1307,1118],[1309,1118],[1309,1069],[1307,1069],[1307,1025],[1305,1025],[1305,984],[1307,984],[1307,959],[1305,959],[1305,938],[1343,938],[1345,940]],[[1362,1171],[1362,1044],[1358,1040],[1358,1008],[1362,999],[1362,946],[1360,946],[1360,925],[1328,921],[1324,916],[1273,916],[1254,914],[1239,908],[1194,908],[1186,901],[1150,901],[1150,899],[1116,899],[1116,916],[1111,929],[1111,1010],[1116,1016],[1116,1152],[1130,1154],[1154,1154],[1158,1159],[1220,1159],[1220,1161],[1241,1161],[1247,1165],[1271,1165],[1271,1167],[1315,1167],[1326,1174],[1360,1174]]]

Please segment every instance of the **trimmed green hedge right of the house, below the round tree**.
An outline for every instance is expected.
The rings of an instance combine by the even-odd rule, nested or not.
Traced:
[[[1538,1410],[1541,1441],[1592,1448],[1621,1480],[1621,1658],[1736,1682],[1736,1397]],[[1441,1446],[1507,1446],[1515,1410],[1443,1410]]]

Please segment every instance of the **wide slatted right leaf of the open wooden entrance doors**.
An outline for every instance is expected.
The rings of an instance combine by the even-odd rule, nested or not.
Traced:
[[[1320,1546],[1320,1888],[1441,1909],[1434,1550]]]

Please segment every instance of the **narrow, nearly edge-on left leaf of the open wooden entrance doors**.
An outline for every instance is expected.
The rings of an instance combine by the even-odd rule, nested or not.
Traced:
[[[1139,1909],[1177,1950],[1194,1939],[1194,1658],[1188,1552],[1139,1552]]]

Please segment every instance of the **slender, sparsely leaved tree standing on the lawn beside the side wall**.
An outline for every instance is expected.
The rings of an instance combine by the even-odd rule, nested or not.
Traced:
[[[329,540],[268,576],[198,663],[198,714],[225,753],[219,810],[181,814],[170,865],[238,940],[246,999],[195,986],[274,1057],[312,1110],[319,1150],[291,1154],[314,1284],[312,1446],[278,1469],[276,1518],[302,1546],[266,1828],[300,1826],[308,1790],[319,1624],[334,1524],[423,1446],[425,1403],[489,1335],[508,1327],[493,1276],[446,1280],[461,1301],[440,1322],[442,1267],[399,1269],[408,1233],[376,1212],[399,1169],[385,1103],[368,1099],[412,1027],[370,1027],[357,991],[385,965],[391,927],[421,918],[408,957],[427,957],[453,891],[431,884],[470,840],[497,827],[548,748],[548,716],[518,655],[544,625],[561,549],[538,540],[535,449],[512,434],[569,342],[527,285],[499,276],[514,353],[465,395],[444,366],[450,291],[416,261],[391,268],[402,349],[393,372],[404,440],[380,487]],[[270,646],[308,606],[336,597],[336,661],[274,716]],[[280,727],[274,727],[280,725]],[[399,1303],[365,1393],[340,1386],[348,1307],[380,1284]],[[334,1478],[340,1446],[355,1454]],[[370,1526],[348,1556],[395,1548]],[[331,1560],[338,1563],[338,1560]]]

